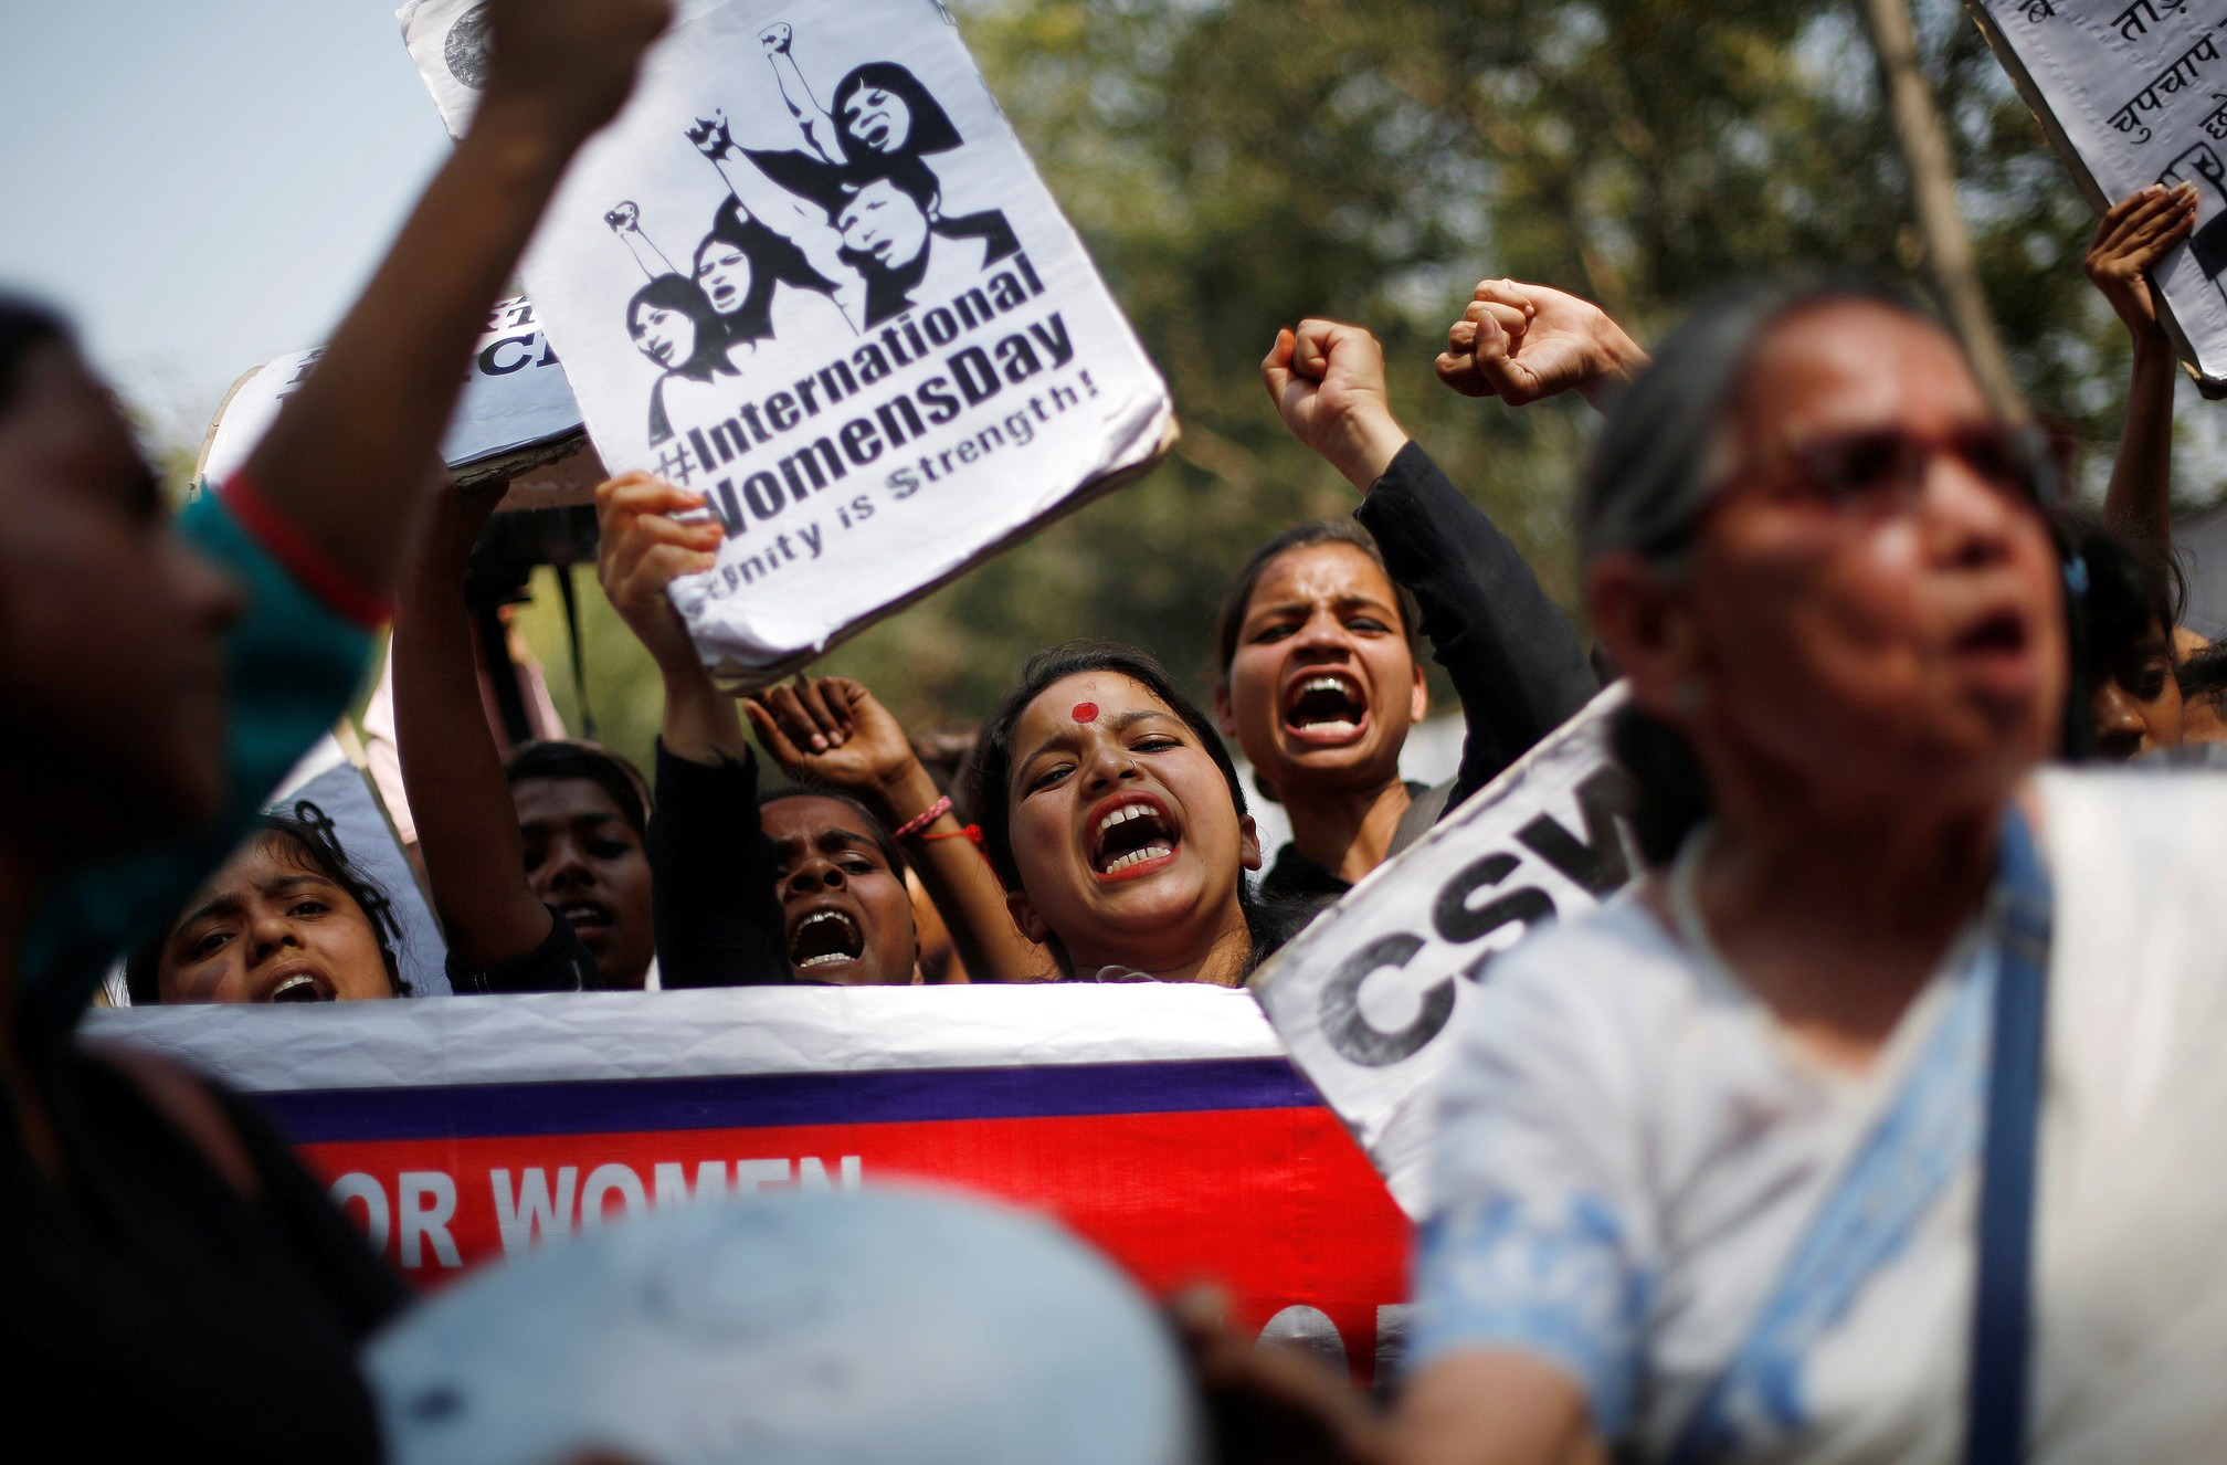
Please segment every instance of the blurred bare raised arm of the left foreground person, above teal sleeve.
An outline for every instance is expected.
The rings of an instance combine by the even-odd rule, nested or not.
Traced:
[[[472,343],[579,145],[635,85],[668,0],[492,0],[472,131],[247,461],[258,496],[367,594],[405,568]]]

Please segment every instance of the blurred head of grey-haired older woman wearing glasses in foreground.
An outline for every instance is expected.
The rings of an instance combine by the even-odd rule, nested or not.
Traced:
[[[1770,283],[1679,327],[1579,499],[1648,855],[1713,806],[2000,806],[2064,706],[2047,483],[1904,296]]]

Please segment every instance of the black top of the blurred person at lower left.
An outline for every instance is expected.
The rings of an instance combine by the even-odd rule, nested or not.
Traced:
[[[225,1180],[145,1091],[38,1038],[71,1189],[0,1100],[0,1378],[27,1441],[87,1461],[376,1461],[356,1371],[405,1300],[274,1129],[216,1091],[258,1196]]]

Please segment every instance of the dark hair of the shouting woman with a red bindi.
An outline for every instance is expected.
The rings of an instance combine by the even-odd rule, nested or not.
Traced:
[[[1185,697],[1176,688],[1176,679],[1167,675],[1151,652],[1142,652],[1134,646],[1122,646],[1118,641],[1067,641],[1065,646],[1051,646],[1047,650],[1029,657],[1029,663],[1020,670],[1020,681],[1011,692],[998,704],[989,721],[982,724],[982,737],[975,741],[973,768],[971,768],[971,795],[975,815],[982,822],[982,851],[989,855],[989,864],[998,871],[1000,884],[1007,891],[1020,891],[1020,864],[1013,857],[1013,730],[1020,726],[1022,715],[1029,706],[1044,695],[1044,690],[1065,681],[1067,677],[1078,677],[1082,672],[1114,672],[1118,677],[1129,677],[1145,690],[1149,690],[1169,712],[1183,719],[1183,726],[1191,730],[1198,744],[1214,759],[1214,766],[1223,775],[1223,784],[1229,788],[1229,806],[1243,822],[1245,813],[1245,784],[1238,779],[1238,766],[1229,757],[1229,748],[1223,746],[1220,732],[1214,730],[1214,721],[1207,719],[1205,710]],[[1252,960],[1247,962],[1247,975],[1269,957],[1278,946],[1283,946],[1296,931],[1296,913],[1283,908],[1276,902],[1265,902],[1238,873],[1238,908],[1245,913],[1245,931],[1252,935]],[[1067,948],[1058,937],[1049,942],[1060,966],[1071,966],[1067,960]]]

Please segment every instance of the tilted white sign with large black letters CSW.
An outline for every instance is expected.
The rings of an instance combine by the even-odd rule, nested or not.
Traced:
[[[1485,964],[1623,886],[1630,779],[1608,757],[1612,686],[1514,768],[1376,866],[1276,953],[1254,991],[1305,1073],[1416,1220],[1432,1087]]]

